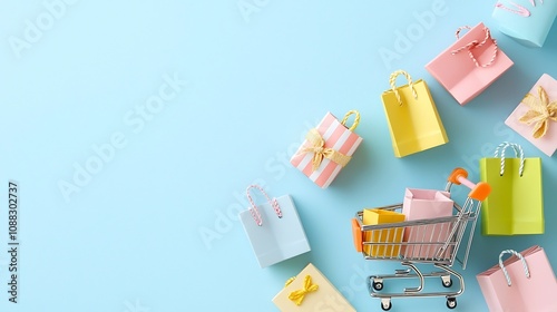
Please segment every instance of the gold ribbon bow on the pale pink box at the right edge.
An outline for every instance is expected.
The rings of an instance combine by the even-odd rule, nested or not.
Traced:
[[[534,138],[540,138],[547,133],[548,120],[557,121],[557,100],[549,101],[546,90],[541,86],[538,87],[539,98],[531,94],[527,94],[522,103],[527,105],[528,110],[520,119],[520,123],[534,125]]]

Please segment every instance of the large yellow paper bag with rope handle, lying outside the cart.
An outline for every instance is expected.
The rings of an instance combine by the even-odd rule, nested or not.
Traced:
[[[408,85],[397,87],[397,76],[403,75]],[[404,157],[449,142],[428,85],[412,82],[403,70],[391,74],[391,89],[381,96],[391,134],[394,156]]]

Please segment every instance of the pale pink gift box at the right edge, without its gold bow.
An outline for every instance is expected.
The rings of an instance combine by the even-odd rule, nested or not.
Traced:
[[[541,78],[534,85],[531,90],[529,91],[535,98],[540,100],[539,98],[539,87],[544,88],[548,96],[548,103],[557,103],[557,80],[555,80],[551,76],[544,74]],[[520,117],[522,117],[530,108],[520,103],[517,108],[510,114],[510,116],[505,120],[505,124],[509,126],[511,129],[517,131],[519,135],[529,140],[534,146],[539,148],[539,150],[544,152],[547,156],[551,157],[551,155],[557,149],[557,123],[551,119],[547,119],[547,131],[544,136],[539,138],[534,137],[534,125],[528,125],[519,121]],[[556,113],[557,114],[557,113]],[[557,116],[556,116],[557,117]]]

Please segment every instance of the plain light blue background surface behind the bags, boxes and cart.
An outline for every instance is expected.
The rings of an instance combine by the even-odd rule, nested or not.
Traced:
[[[543,159],[546,234],[476,233],[457,311],[487,310],[475,275],[504,248],[540,244],[557,267],[557,163],[502,125],[541,74],[557,77],[557,27],[544,48],[525,48],[497,30],[491,1],[447,0],[430,29],[397,51],[397,31],[417,27],[416,14],[436,2],[81,0],[66,4],[18,58],[10,40],[25,39],[26,20],[37,23],[48,10],[37,0],[2,1],[0,310],[277,311],[272,298],[312,262],[358,311],[379,311],[363,276],[397,263],[355,253],[350,218],[400,202],[407,186],[442,188],[456,166],[478,179],[478,159],[504,140]],[[243,16],[238,3],[256,10]],[[480,21],[515,66],[460,107],[423,66],[458,27]],[[400,59],[385,64],[381,48]],[[398,68],[428,81],[449,144],[394,158],[380,95]],[[130,125],[165,75],[188,84],[143,128]],[[349,109],[362,115],[364,142],[320,189],[284,159],[326,111]],[[75,165],[94,162],[92,146],[115,134],[125,146],[66,201],[60,182],[74,183]],[[1,252],[9,179],[21,185],[18,304],[8,302]],[[253,182],[292,195],[311,253],[258,267],[236,218]],[[410,310],[447,308],[443,299],[393,301],[392,311]]]

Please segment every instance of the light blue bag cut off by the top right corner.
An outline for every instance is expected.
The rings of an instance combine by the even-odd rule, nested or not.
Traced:
[[[544,46],[557,17],[557,1],[500,0],[492,14],[499,30],[529,46]]]

